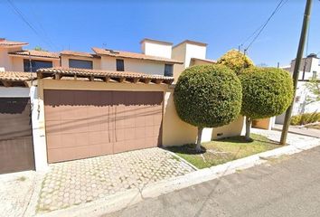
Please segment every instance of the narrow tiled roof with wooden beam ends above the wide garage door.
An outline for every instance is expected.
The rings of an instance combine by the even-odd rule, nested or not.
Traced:
[[[138,82],[142,81],[145,83],[154,82],[154,83],[167,83],[171,84],[174,81],[173,77],[166,77],[163,75],[153,75],[132,71],[100,71],[100,70],[86,70],[86,69],[72,69],[72,68],[43,68],[37,71],[38,78],[52,77],[54,79],[61,77],[85,77],[89,80],[127,80],[129,82]]]

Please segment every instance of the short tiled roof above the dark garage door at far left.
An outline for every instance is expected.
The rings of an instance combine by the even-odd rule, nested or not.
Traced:
[[[23,71],[0,71],[0,83],[5,87],[30,87],[30,81],[36,80],[37,74]]]

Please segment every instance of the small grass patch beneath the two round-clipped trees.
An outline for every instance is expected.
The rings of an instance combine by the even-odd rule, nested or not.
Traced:
[[[201,153],[195,152],[194,144],[171,146],[167,149],[202,169],[279,147],[278,143],[261,135],[251,134],[251,138],[253,139],[251,142],[247,142],[244,137],[239,136],[202,143]]]

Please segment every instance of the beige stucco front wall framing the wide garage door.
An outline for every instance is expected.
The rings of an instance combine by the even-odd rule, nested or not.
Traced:
[[[45,135],[44,109],[43,109],[43,89],[49,90],[127,90],[127,91],[164,91],[164,115],[163,115],[163,145],[180,146],[194,143],[197,137],[197,128],[182,121],[174,108],[173,92],[165,84],[132,84],[132,83],[113,83],[113,82],[92,82],[80,80],[39,80],[38,93],[40,102],[39,127]],[[221,137],[231,137],[240,135],[243,125],[243,118],[239,118],[228,126],[214,128],[210,131],[209,137],[216,138],[217,134]]]

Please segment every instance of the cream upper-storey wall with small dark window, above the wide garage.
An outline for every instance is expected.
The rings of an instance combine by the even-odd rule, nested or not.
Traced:
[[[165,74],[165,63],[160,61],[144,61],[129,58],[102,56],[101,70],[116,71],[116,59],[125,61],[125,71],[142,72],[146,74]]]

